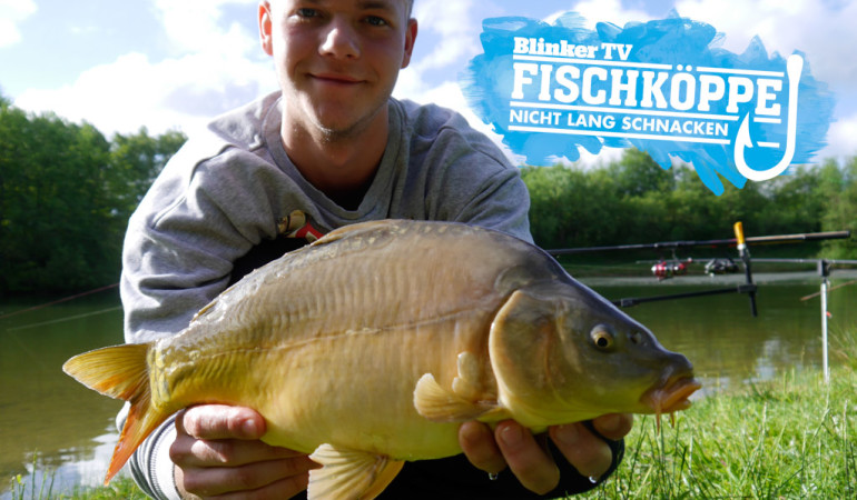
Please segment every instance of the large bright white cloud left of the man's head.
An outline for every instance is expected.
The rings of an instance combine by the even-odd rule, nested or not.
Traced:
[[[187,132],[276,89],[256,34],[221,19],[226,3],[255,4],[255,0],[156,3],[171,57],[152,61],[144,53],[128,53],[83,71],[60,89],[24,91],[16,106],[85,120],[107,136],[136,132],[141,126],[152,133]],[[254,16],[252,8],[247,14]]]

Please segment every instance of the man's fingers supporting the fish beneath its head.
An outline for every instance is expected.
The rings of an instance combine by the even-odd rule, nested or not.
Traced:
[[[592,420],[604,438],[620,440],[631,430],[633,416],[611,413]],[[549,434],[569,463],[583,476],[599,478],[610,469],[610,447],[581,422],[554,426]],[[546,493],[559,484],[560,471],[544,442],[513,420],[500,422],[494,431],[476,421],[459,429],[459,443],[467,459],[479,469],[499,473],[510,468],[521,484],[536,493]]]

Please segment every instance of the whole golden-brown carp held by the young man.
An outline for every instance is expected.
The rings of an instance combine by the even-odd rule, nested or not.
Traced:
[[[669,413],[690,362],[539,248],[449,222],[338,229],[224,291],[180,333],[71,358],[131,402],[105,483],[174,412],[256,409],[263,440],[313,453],[311,499],[374,498],[404,461],[461,453],[461,422],[534,431]]]

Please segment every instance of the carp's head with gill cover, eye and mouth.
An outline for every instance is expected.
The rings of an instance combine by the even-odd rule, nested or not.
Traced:
[[[489,338],[499,399],[530,427],[669,413],[700,388],[688,359],[570,277],[513,292]]]

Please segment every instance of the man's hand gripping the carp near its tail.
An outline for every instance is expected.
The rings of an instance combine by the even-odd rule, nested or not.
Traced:
[[[169,456],[185,498],[290,498],[321,467],[305,453],[262,442],[265,419],[249,408],[191,407],[176,418],[176,431]]]

